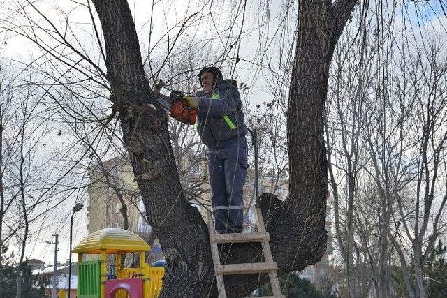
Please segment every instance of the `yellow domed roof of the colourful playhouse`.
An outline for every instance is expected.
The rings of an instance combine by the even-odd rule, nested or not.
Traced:
[[[150,251],[151,247],[137,234],[119,228],[105,228],[98,230],[82,239],[73,248],[73,253],[98,254],[129,253],[131,251]]]

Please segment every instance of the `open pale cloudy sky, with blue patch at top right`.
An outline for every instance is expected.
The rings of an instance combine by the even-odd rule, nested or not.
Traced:
[[[247,1],[244,10],[240,1],[161,0],[156,1],[152,10],[152,1],[128,1],[135,28],[140,38],[142,56],[143,58],[147,57],[147,49],[151,49],[151,57],[154,60],[158,57],[164,57],[168,52],[168,47],[172,45],[176,34],[179,32],[180,24],[187,17],[198,13],[189,20],[188,26],[182,31],[173,54],[179,54],[193,40],[197,42],[198,47],[203,47],[205,51],[203,59],[206,63],[212,63],[216,57],[228,59],[222,64],[224,75],[228,77],[232,75],[234,70],[233,77],[237,77],[239,82],[244,82],[250,87],[247,97],[253,105],[272,100],[268,90],[268,82],[271,79],[268,67],[272,66],[277,69],[279,55],[286,53],[287,48],[281,50],[281,47],[279,47],[282,42],[286,44],[286,47],[293,45],[293,29],[295,28],[295,18],[293,16],[296,11],[295,6],[292,6],[291,16],[284,19],[283,12],[284,5],[286,5],[284,3],[286,2],[268,1],[269,10],[267,10],[265,1],[251,0]],[[390,2],[388,1],[388,9],[391,6]],[[85,6],[78,4],[85,4],[87,1],[35,1],[35,5],[43,13],[43,16],[38,15],[29,5],[24,4],[20,8],[17,3],[24,3],[24,1],[3,0],[1,2],[0,36],[3,37],[0,37],[0,40],[2,40],[0,52],[6,58],[6,60],[3,60],[3,65],[5,65],[3,69],[9,67],[13,73],[20,73],[24,64],[28,64],[29,61],[41,55],[41,50],[30,40],[5,29],[6,27],[20,29],[17,25],[24,26],[24,24],[27,24],[23,15],[23,11],[26,10],[27,16],[47,29],[50,29],[50,25],[45,22],[43,16],[54,22],[62,32],[66,30],[66,22],[68,22],[71,27],[66,35],[68,40],[105,71],[101,53],[98,50],[98,41],[91,26],[89,11]],[[406,10],[398,9],[397,11],[395,31],[404,32],[404,24],[411,27],[408,32],[414,45],[422,45],[422,41],[430,37],[437,38],[439,41],[446,40],[447,30],[444,26],[447,26],[447,19],[440,9],[439,1],[427,1],[427,3],[409,1]],[[150,22],[151,16],[152,22]],[[94,20],[99,24],[97,17]],[[407,22],[404,23],[404,20],[407,20]],[[286,24],[286,27],[279,27],[279,24]],[[349,24],[348,26],[352,25]],[[54,43],[42,31],[37,33],[40,34],[42,43]],[[399,38],[398,35],[397,38]],[[241,38],[239,39],[238,36]],[[233,50],[223,51],[231,44],[234,45]],[[416,47],[414,48],[416,49]],[[241,61],[235,64],[237,55],[241,58]],[[47,64],[41,67],[50,69]],[[197,68],[200,67],[200,65],[197,66]],[[49,138],[55,142],[54,147],[57,147],[54,135]],[[64,262],[68,258],[69,219],[71,208],[77,200],[84,202],[85,207],[78,214],[75,214],[73,243],[77,244],[87,235],[86,207],[88,203],[85,201],[86,197],[85,191],[75,193],[72,198],[54,209],[34,227],[36,230],[41,227],[45,227],[45,229],[31,237],[31,245],[27,249],[29,258],[38,258],[52,263],[52,245],[47,244],[46,241],[52,241],[52,234],[54,233],[59,234],[61,242],[58,260]],[[47,225],[49,222],[51,224]],[[76,260],[75,255],[73,255],[73,259]]]

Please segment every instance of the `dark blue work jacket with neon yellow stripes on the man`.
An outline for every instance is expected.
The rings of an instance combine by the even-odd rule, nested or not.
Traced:
[[[199,91],[197,114],[198,134],[210,149],[221,149],[238,137],[247,134],[242,102],[234,80],[219,80],[210,94]],[[228,116],[235,127],[224,119]]]

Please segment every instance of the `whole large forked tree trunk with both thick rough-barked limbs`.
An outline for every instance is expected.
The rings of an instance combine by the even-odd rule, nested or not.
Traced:
[[[279,275],[304,269],[321,260],[325,252],[324,103],[335,43],[355,3],[335,2],[332,15],[331,1],[300,1],[287,122],[290,193],[284,204],[269,195],[258,200],[268,221]],[[94,5],[104,34],[110,100],[119,111],[124,145],[149,223],[166,255],[161,297],[214,297],[217,288],[207,227],[182,194],[167,116],[155,103],[145,78],[129,6],[119,0],[94,0]],[[152,100],[156,110],[142,100]],[[261,251],[260,245],[251,244],[223,248],[221,258],[227,263],[256,262]],[[259,284],[254,275],[228,276],[225,281],[228,297],[248,295]]]

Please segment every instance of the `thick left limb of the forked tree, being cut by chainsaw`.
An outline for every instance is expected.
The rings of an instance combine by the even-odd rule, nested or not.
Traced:
[[[119,110],[148,221],[168,263],[161,295],[206,297],[214,279],[207,227],[182,194],[166,112],[154,103],[145,78],[131,11],[126,1],[96,0],[94,5],[103,28],[110,99]],[[156,110],[143,100],[152,100]]]

